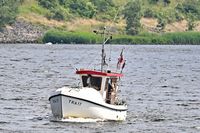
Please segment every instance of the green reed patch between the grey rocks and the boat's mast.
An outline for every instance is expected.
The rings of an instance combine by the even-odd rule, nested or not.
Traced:
[[[66,32],[61,30],[49,30],[43,37],[43,42],[65,44],[94,44],[101,38],[96,34],[86,32]]]

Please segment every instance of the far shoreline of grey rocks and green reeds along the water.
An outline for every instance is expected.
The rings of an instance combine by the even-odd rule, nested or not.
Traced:
[[[102,37],[89,32],[69,32],[17,20],[0,30],[0,44],[101,44]],[[135,36],[113,35],[115,45],[200,45],[200,32],[140,33]]]

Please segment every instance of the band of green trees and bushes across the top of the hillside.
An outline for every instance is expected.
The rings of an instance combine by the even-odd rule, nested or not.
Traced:
[[[11,24],[24,11],[27,0],[0,0],[0,27]],[[116,21],[126,20],[126,33],[143,32],[141,17],[156,18],[159,29],[169,23],[187,20],[188,30],[193,30],[195,21],[200,20],[199,0],[29,0],[29,10],[48,19],[70,21],[76,18]],[[131,30],[132,29],[132,30]]]

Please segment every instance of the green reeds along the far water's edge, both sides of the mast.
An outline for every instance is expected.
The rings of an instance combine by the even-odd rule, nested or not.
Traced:
[[[50,30],[44,37],[43,42],[65,44],[97,44],[102,38],[94,33],[66,32]],[[142,33],[137,36],[115,35],[109,41],[111,44],[200,44],[200,32],[177,32],[165,34]]]

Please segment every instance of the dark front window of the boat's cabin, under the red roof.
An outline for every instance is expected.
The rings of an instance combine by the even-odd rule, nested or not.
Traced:
[[[101,81],[102,81],[101,77],[93,77],[91,75],[82,76],[82,81],[83,81],[83,87],[92,87],[98,91],[101,90]]]

